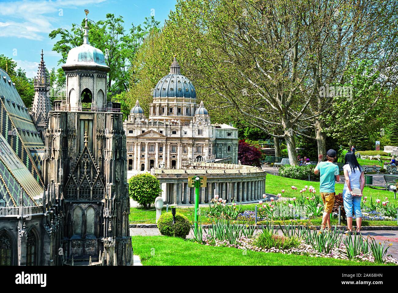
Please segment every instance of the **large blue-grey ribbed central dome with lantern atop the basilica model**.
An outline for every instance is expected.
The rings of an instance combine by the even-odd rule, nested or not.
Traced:
[[[174,57],[174,61],[170,66],[170,73],[158,81],[154,88],[153,97],[184,97],[196,98],[195,87],[191,81],[180,73],[181,67]]]

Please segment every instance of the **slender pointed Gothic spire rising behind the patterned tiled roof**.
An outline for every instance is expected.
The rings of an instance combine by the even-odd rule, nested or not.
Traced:
[[[44,142],[44,133],[48,126],[48,113],[51,111],[51,101],[48,96],[50,83],[47,79],[46,67],[43,60],[43,50],[41,50],[39,70],[37,71],[33,87],[35,90],[35,98],[33,99],[31,116],[37,132],[39,132]]]

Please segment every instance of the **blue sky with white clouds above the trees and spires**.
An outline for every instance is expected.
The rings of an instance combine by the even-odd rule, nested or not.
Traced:
[[[151,13],[163,25],[175,5],[176,0],[0,0],[0,55],[11,57],[28,77],[34,77],[41,49],[47,69],[60,66],[60,55],[52,51],[57,40],[48,35],[53,29],[80,23],[84,9],[90,10],[88,18],[94,21],[105,19],[107,13],[121,15],[127,30]]]

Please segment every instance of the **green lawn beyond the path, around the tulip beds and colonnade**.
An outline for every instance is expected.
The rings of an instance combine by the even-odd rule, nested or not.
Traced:
[[[297,186],[298,190],[291,189],[291,186]],[[300,195],[299,190],[304,188],[305,185],[312,185],[316,191],[319,191],[319,182],[313,181],[304,181],[298,179],[290,179],[275,175],[267,175],[266,184],[265,184],[265,192],[271,194],[281,193],[282,189],[285,189],[285,193],[283,193],[283,197],[298,197]],[[343,184],[336,184],[336,192],[343,191]],[[384,201],[385,197],[388,197],[388,200],[391,203],[395,203],[398,205],[398,201],[394,200],[394,193],[391,191],[378,190],[373,189],[371,187],[365,187],[363,194],[368,197],[368,201],[372,195],[373,201],[376,199],[381,199]],[[247,204],[242,205],[241,211],[244,210],[254,210],[255,204]],[[153,209],[153,207],[151,208]],[[201,214],[204,215],[208,208],[201,207]],[[166,212],[166,207],[162,209],[162,212]],[[193,208],[177,208],[177,212],[184,214],[187,216],[188,220],[192,222],[192,216],[190,215],[193,212]],[[155,210],[146,210],[145,208],[131,208],[131,212],[129,215],[130,223],[146,223],[146,224],[155,224],[156,211]],[[306,222],[306,220],[300,220],[300,222]],[[314,219],[311,220],[312,224],[318,225],[321,220]],[[337,223],[337,220],[336,220]],[[202,224],[211,224],[211,220],[205,216],[202,216]],[[344,224],[344,223],[343,223]],[[396,221],[363,221],[363,226],[397,226]]]

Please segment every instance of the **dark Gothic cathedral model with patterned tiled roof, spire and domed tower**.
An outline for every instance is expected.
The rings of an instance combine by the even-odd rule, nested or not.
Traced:
[[[0,265],[133,263],[122,113],[120,104],[107,102],[110,68],[88,44],[87,17],[84,29],[83,45],[71,49],[62,66],[66,100],[54,101],[52,109],[42,55],[31,112],[39,131],[29,130],[36,145],[25,138],[32,121],[21,129],[11,120],[0,135]],[[4,117],[15,116],[8,113],[17,105],[21,117],[29,115],[1,73]],[[39,126],[47,123],[43,147]],[[15,140],[25,152],[13,147]]]

